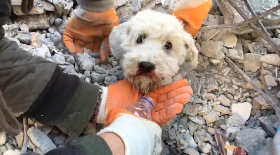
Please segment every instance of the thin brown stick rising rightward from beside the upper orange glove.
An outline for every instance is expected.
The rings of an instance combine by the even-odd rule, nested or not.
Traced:
[[[240,23],[205,26],[205,27],[201,27],[200,30],[205,31],[205,30],[211,30],[211,29],[233,28],[233,27],[249,24],[249,23],[252,23],[252,22],[254,22],[256,20],[262,19],[262,18],[264,18],[267,15],[270,15],[270,14],[276,12],[279,9],[280,9],[280,5],[272,8],[272,9],[270,9],[270,10],[264,12],[264,13],[262,13],[259,16],[253,17],[253,18],[251,18],[249,20],[246,20],[246,21],[243,21],[243,22],[240,22]]]

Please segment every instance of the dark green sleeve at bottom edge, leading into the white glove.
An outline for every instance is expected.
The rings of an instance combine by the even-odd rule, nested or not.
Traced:
[[[73,145],[67,145],[62,148],[55,148],[45,155],[112,155],[110,147],[106,141],[98,135],[89,135],[80,139]],[[39,155],[34,152],[27,152],[23,155]]]

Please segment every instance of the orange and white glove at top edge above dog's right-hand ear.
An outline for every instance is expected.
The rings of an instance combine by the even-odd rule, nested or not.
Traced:
[[[196,36],[211,6],[212,0],[174,0],[170,4],[169,13],[185,24],[188,33]]]

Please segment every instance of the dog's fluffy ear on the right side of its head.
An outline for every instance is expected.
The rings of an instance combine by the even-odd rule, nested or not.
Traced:
[[[195,40],[192,35],[187,32],[183,34],[183,40],[187,51],[184,53],[185,59],[191,62],[191,66],[193,68],[196,68],[198,64],[198,50],[195,47]]]

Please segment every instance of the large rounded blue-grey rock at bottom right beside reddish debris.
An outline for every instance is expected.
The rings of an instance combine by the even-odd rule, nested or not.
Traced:
[[[265,132],[261,129],[246,129],[237,133],[235,138],[237,146],[244,147],[252,155],[257,155],[264,147]]]

